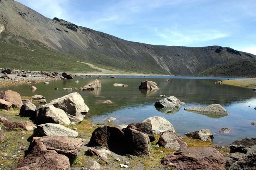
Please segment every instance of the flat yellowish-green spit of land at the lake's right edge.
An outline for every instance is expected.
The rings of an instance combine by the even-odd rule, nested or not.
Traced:
[[[233,86],[241,86],[246,88],[256,88],[256,78],[241,78],[234,80],[222,80],[217,83],[228,84]]]

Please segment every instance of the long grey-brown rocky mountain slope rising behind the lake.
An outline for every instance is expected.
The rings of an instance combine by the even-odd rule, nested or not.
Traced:
[[[256,58],[228,47],[157,46],[126,41],[59,18],[46,18],[14,0],[0,0],[0,41],[30,51],[40,47],[58,53],[52,63],[63,62],[65,58],[147,74],[195,75],[215,64]],[[2,55],[2,58],[8,66],[13,59],[6,53],[7,57]],[[38,61],[37,56],[32,56],[27,66]],[[31,55],[21,58],[24,57]],[[67,62],[66,66],[71,63]],[[66,66],[60,68],[56,64],[55,68],[65,70]]]

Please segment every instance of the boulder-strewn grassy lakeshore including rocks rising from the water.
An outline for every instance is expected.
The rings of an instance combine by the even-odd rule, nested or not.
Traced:
[[[11,70],[2,73],[0,84],[8,87],[70,76],[66,73]],[[154,85],[146,83],[146,89]],[[89,108],[76,92],[37,107],[34,103],[41,99],[38,96],[32,100],[21,99],[12,90],[1,93],[1,170],[247,170],[256,167],[256,138],[214,146],[210,129],[188,132],[188,138],[183,138],[176,134],[172,123],[160,116],[129,125],[112,125],[111,119],[105,125],[93,125],[86,119]],[[170,96],[155,106],[180,108],[182,104]],[[220,108],[211,105],[186,109],[218,116],[229,114]],[[220,133],[228,133],[228,130],[223,129]]]

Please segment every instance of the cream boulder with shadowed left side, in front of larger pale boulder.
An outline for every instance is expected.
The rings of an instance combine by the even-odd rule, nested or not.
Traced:
[[[36,123],[59,123],[69,125],[70,120],[64,110],[54,107],[52,104],[46,104],[37,108]]]

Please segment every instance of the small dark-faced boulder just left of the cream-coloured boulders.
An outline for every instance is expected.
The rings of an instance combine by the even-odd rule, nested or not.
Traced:
[[[24,103],[20,108],[20,116],[36,118],[36,106],[31,102]]]

